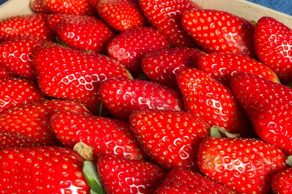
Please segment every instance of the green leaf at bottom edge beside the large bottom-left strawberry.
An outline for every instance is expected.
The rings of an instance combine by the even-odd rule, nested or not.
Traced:
[[[82,168],[84,177],[91,190],[94,192],[92,194],[105,194],[105,191],[100,182],[99,176],[97,174],[96,165],[90,161],[85,161]]]

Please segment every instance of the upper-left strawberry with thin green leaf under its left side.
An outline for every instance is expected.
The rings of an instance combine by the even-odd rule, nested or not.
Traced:
[[[48,22],[53,24],[50,27],[54,27],[58,38],[73,49],[106,53],[115,36],[113,30],[93,16],[55,14],[49,16]]]

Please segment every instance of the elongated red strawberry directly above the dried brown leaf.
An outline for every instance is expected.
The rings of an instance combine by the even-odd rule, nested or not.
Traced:
[[[107,155],[145,160],[141,146],[124,121],[63,112],[52,116],[51,126],[63,146],[73,149],[82,141],[92,147],[95,161]]]

